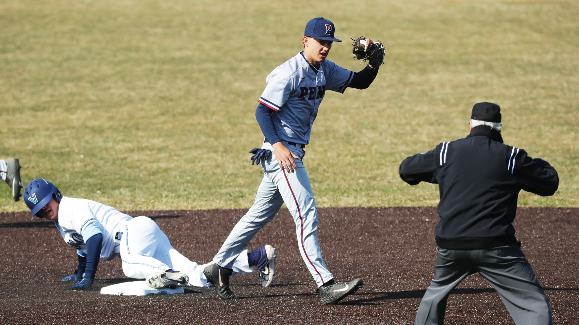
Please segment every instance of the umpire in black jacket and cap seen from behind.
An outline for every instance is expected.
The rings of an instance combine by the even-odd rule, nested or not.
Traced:
[[[443,142],[400,164],[404,182],[438,184],[440,191],[436,270],[415,325],[443,324],[450,291],[477,272],[499,292],[516,324],[553,323],[549,298],[512,221],[519,191],[553,195],[559,176],[547,161],[505,145],[500,122],[499,105],[478,103],[466,138]]]

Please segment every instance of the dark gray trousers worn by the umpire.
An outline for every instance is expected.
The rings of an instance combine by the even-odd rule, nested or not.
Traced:
[[[415,325],[444,324],[450,291],[477,272],[497,290],[515,324],[553,324],[549,298],[520,245],[437,251],[434,279],[420,301]]]

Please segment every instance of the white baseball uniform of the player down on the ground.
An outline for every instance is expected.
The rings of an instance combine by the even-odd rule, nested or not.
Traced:
[[[86,256],[85,238],[102,233],[100,260],[120,256],[123,272],[129,278],[144,279],[155,272],[174,269],[189,276],[189,285],[211,286],[203,275],[203,269],[210,263],[198,265],[177,252],[149,217],[133,218],[95,201],[63,197],[55,224],[64,241],[76,248],[80,256]],[[247,261],[247,251],[234,262],[233,271],[239,274],[253,272]]]

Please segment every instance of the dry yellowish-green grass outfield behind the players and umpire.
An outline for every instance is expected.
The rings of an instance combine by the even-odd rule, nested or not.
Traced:
[[[313,5],[315,5],[313,7]],[[319,206],[436,205],[398,165],[468,134],[470,110],[503,109],[505,143],[551,162],[552,197],[579,206],[577,1],[0,2],[0,158],[23,183],[118,209],[247,208],[265,77],[334,21],[329,60],[360,71],[350,38],[386,46],[367,90],[328,92],[306,147]],[[0,211],[25,210],[3,186]]]

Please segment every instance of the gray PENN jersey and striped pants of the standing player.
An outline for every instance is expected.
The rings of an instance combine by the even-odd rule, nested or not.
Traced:
[[[312,124],[325,91],[343,93],[354,75],[353,71],[329,60],[320,62],[319,69],[316,69],[301,52],[267,76],[267,86],[259,102],[275,111],[272,119],[277,135],[283,145],[299,157],[295,159],[297,168],[294,173],[280,168],[272,144],[263,143],[262,148],[272,150],[272,157],[261,161],[264,176],[255,202],[213,258],[215,263],[232,268],[255,233],[273,220],[285,202],[294,217],[299,252],[317,285],[334,278],[324,263],[318,244],[316,201],[302,162],[303,146],[310,141]]]

